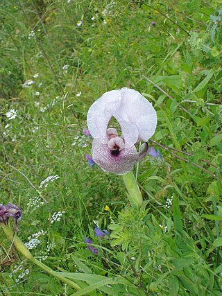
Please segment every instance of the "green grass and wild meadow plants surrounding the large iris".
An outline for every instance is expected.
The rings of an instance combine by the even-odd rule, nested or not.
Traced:
[[[222,295],[221,9],[210,0],[0,4],[0,202],[22,208],[24,242],[43,231],[37,259],[86,274],[75,279],[83,295]],[[139,163],[139,212],[119,176],[85,159],[87,110],[121,87],[157,110],[152,139],[162,146],[149,144],[162,159]],[[96,224],[110,236],[96,238]],[[1,232],[1,295],[77,295],[9,247]]]

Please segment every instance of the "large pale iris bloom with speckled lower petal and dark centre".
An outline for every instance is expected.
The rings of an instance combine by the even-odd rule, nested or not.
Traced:
[[[121,134],[108,128],[114,117],[120,125]],[[87,114],[87,125],[92,135],[92,159],[103,171],[123,175],[146,155],[146,141],[155,132],[157,115],[150,103],[134,89],[106,92],[95,101]],[[135,144],[143,141],[139,153]]]

